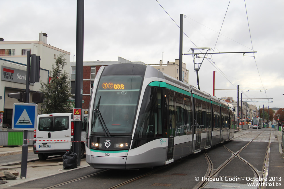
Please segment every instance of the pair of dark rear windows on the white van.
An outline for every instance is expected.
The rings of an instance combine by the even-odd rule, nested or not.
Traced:
[[[39,131],[64,131],[69,129],[69,117],[40,117],[38,121]]]

